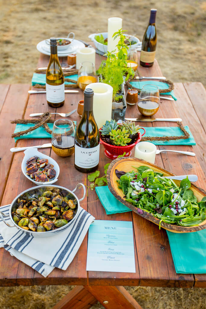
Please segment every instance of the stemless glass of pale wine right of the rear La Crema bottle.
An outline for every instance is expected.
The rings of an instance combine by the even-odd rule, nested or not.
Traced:
[[[84,61],[80,64],[78,71],[78,87],[85,90],[85,87],[91,83],[96,83],[96,71],[94,63],[90,61]]]

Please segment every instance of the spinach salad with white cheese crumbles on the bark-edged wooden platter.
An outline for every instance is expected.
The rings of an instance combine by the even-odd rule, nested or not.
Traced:
[[[191,183],[183,179],[177,186],[172,179],[166,179],[162,173],[147,166],[134,167],[137,171],[116,170],[119,188],[125,194],[126,201],[149,212],[161,222],[180,226],[199,225],[206,218],[206,197],[197,202]]]

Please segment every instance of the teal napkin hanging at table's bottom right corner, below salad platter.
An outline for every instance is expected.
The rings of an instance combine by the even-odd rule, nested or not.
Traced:
[[[206,273],[206,229],[167,235],[176,273]]]

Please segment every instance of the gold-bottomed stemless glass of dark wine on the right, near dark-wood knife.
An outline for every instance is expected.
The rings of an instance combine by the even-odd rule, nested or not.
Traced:
[[[159,109],[159,88],[156,85],[147,84],[142,87],[137,108],[144,116],[152,116]]]

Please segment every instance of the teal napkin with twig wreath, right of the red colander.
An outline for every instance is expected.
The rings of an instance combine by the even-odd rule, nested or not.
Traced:
[[[190,134],[190,137],[187,139],[178,139],[176,141],[152,141],[152,143],[154,145],[196,145],[195,140],[188,126],[186,125],[184,128]],[[181,136],[182,135],[182,131],[180,130],[179,127],[145,127],[145,130],[146,130],[146,133],[144,137],[147,137],[147,136],[151,136],[151,137],[153,136]]]

